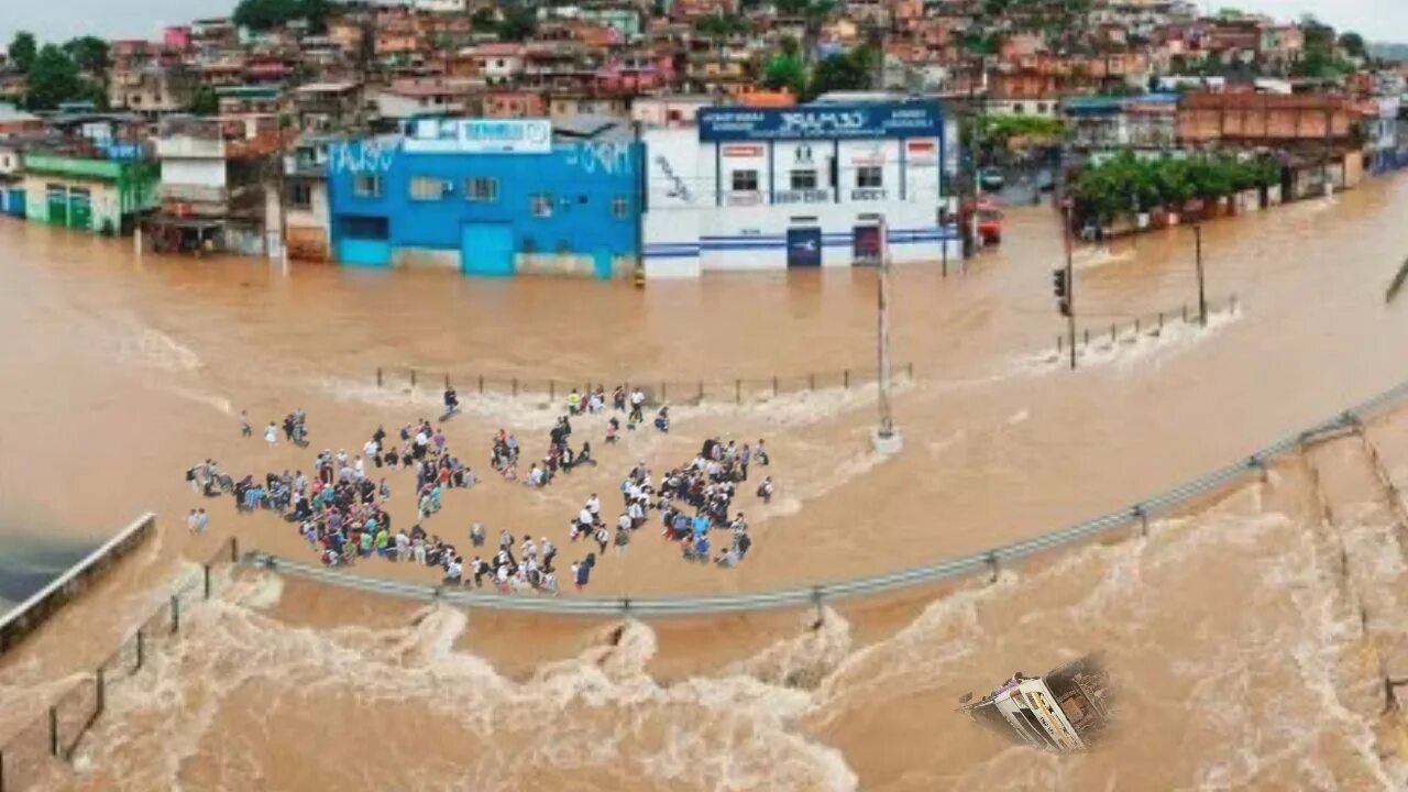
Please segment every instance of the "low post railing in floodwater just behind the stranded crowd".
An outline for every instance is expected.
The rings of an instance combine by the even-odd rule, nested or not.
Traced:
[[[894,376],[914,379],[914,364],[895,364]],[[803,393],[826,389],[852,389],[872,385],[879,379],[879,369],[845,368],[812,371],[805,373],[772,375],[735,379],[680,379],[659,376],[503,376],[467,372],[448,372],[417,366],[382,366],[376,369],[377,388],[431,389],[453,386],[460,396],[474,393],[496,393],[514,399],[545,399],[566,402],[572,389],[586,393],[589,388],[603,386],[607,399],[617,385],[628,389],[638,386],[650,404],[701,404],[758,402],[784,393]]]

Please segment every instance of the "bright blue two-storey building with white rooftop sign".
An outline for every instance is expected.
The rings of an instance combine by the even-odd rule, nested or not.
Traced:
[[[582,120],[435,118],[328,151],[337,261],[467,275],[629,272],[641,144]]]

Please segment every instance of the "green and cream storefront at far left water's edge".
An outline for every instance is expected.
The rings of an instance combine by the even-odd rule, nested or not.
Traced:
[[[159,180],[155,162],[24,155],[28,220],[93,234],[130,234],[161,203]]]

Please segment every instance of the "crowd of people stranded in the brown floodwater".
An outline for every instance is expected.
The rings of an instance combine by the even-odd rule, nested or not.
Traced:
[[[453,390],[446,390],[446,413],[444,423],[458,407]],[[627,413],[628,428],[634,430],[643,419],[645,395],[639,389],[615,388],[610,409]],[[597,386],[584,392],[573,390],[567,397],[567,414],[558,419],[548,433],[548,450],[541,462],[534,462],[524,478],[532,488],[543,488],[559,474],[570,474],[582,465],[596,465],[591,444],[572,445],[572,419],[605,413],[607,393]],[[667,409],[659,412],[656,427],[669,431]],[[294,444],[306,444],[306,419],[296,410],[284,420],[284,438]],[[270,447],[277,444],[277,434],[270,423],[266,440]],[[605,441],[615,443],[620,421],[611,416],[607,423]],[[248,419],[241,413],[241,433],[252,435]],[[491,443],[490,464],[505,479],[518,478],[517,466],[521,445],[513,434],[500,430]],[[614,523],[603,519],[603,503],[593,493],[569,524],[569,544],[579,541],[596,544],[596,551],[587,551],[569,568],[569,581],[577,590],[584,589],[597,564],[614,547],[617,555],[624,555],[636,531],[645,527],[652,512],[659,512],[663,523],[662,536],[680,543],[681,557],[693,562],[715,562],[719,567],[736,567],[748,555],[752,537],[743,512],[734,512],[734,502],[741,486],[749,478],[749,466],[767,466],[770,462],[763,440],[756,445],[741,448],[731,440],[727,444],[718,437],[707,440],[693,461],[669,471],[656,483],[655,476],[642,459],[621,482],[622,506]],[[414,471],[415,521],[408,528],[393,524],[386,509],[391,499],[391,486],[383,471]],[[515,538],[507,530],[500,531],[497,551],[483,550],[487,538],[482,524],[473,524],[469,543],[473,547],[470,559],[452,541],[439,534],[431,534],[428,524],[442,509],[446,490],[469,489],[477,483],[469,465],[455,457],[442,428],[421,419],[406,424],[398,438],[377,427],[362,454],[346,451],[334,454],[324,450],[313,459],[313,475],[283,469],[270,471],[262,478],[246,475],[232,481],[222,474],[213,459],[191,466],[186,474],[194,492],[215,497],[231,495],[239,512],[268,509],[277,512],[290,523],[298,526],[298,533],[327,567],[353,565],[373,555],[407,564],[438,567],[445,585],[483,588],[489,585],[501,592],[536,590],[558,593],[558,548],[548,537],[534,540],[524,534]],[[759,483],[756,495],[767,502],[773,493],[770,476]],[[208,524],[204,509],[191,510],[187,520],[190,530],[203,531]],[[728,531],[728,547],[712,557],[711,533]]]

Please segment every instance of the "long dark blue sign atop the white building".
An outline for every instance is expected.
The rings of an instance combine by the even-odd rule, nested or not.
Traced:
[[[874,140],[939,137],[935,101],[808,104],[786,109],[703,107],[700,141]]]

